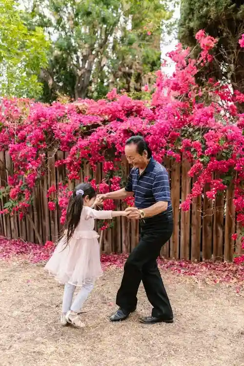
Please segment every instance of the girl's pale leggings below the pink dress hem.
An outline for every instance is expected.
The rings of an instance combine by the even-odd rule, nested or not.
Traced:
[[[86,281],[84,285],[81,287],[80,291],[75,297],[75,300],[72,303],[74,291],[76,289],[75,285],[65,284],[63,291],[63,301],[62,301],[62,313],[67,313],[69,310],[79,312],[88,298],[89,293],[94,287],[93,281]],[[72,305],[71,305],[72,304]]]

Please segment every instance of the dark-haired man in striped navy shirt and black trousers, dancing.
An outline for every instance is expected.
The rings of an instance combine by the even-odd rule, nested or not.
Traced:
[[[140,319],[145,324],[173,323],[173,313],[157,266],[161,248],[173,231],[172,205],[166,169],[152,157],[141,136],[125,143],[125,156],[133,168],[125,188],[101,195],[103,200],[120,200],[135,196],[135,207],[128,207],[130,219],[139,219],[141,237],[125,265],[116,304],[119,309],[110,317],[116,322],[126,319],[137,307],[137,292],[142,281],[152,315]]]

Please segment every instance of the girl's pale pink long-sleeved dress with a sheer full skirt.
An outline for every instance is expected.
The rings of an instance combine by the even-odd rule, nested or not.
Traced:
[[[98,233],[94,219],[112,219],[112,211],[97,211],[83,206],[81,219],[69,244],[61,238],[45,269],[62,284],[82,286],[102,275]]]

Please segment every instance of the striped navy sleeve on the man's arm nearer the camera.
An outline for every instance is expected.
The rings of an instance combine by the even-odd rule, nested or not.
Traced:
[[[165,201],[170,202],[170,187],[168,172],[166,169],[158,172],[153,182],[153,196],[156,202]]]

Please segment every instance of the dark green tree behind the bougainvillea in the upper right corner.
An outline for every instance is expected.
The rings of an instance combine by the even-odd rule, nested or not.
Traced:
[[[179,39],[183,45],[195,45],[195,34],[200,29],[219,42],[213,53],[214,62],[199,72],[199,82],[215,77],[244,92],[244,51],[238,44],[244,33],[243,1],[182,0]],[[196,57],[199,52],[196,48],[192,54]]]

